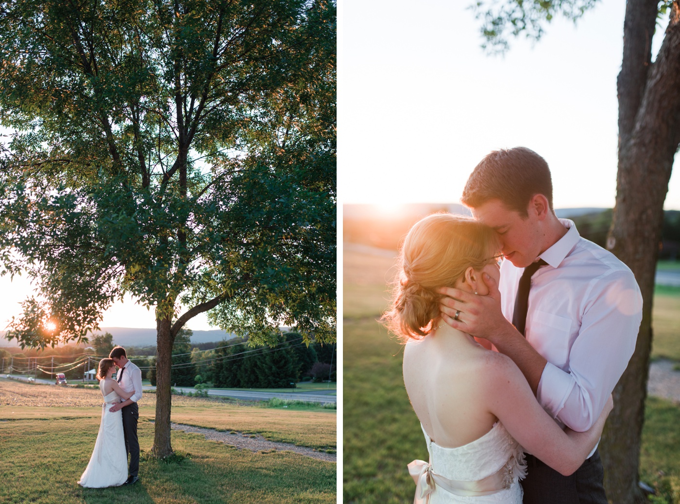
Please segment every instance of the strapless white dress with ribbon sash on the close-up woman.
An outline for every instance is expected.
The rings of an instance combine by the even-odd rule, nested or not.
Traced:
[[[488,433],[458,448],[439,446],[422,431],[430,463],[409,464],[414,504],[522,504],[518,480],[526,476],[524,452],[503,424],[496,422]]]

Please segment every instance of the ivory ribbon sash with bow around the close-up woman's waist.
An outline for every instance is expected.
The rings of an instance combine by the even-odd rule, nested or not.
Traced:
[[[473,482],[454,481],[432,472],[432,464],[421,460],[411,462],[409,474],[415,482],[415,498],[413,504],[427,504],[430,502],[430,494],[436,486],[447,492],[461,497],[475,497],[490,495],[510,488],[513,482],[513,467],[515,456],[511,456],[507,463],[503,464],[498,471],[482,480]]]

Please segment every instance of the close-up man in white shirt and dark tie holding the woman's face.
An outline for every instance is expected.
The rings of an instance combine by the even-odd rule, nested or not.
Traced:
[[[632,272],[556,217],[548,165],[526,147],[488,154],[461,200],[496,230],[507,260],[498,286],[485,274],[488,296],[439,289],[443,319],[511,357],[558,425],[590,429],[635,348],[642,298]],[[527,461],[525,504],[607,504],[597,448],[570,476]]]

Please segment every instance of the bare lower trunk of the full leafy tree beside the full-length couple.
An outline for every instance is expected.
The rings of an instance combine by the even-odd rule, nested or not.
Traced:
[[[170,410],[172,395],[170,393],[170,370],[172,366],[173,337],[170,330],[170,319],[156,319],[156,427],[154,429],[154,446],[152,454],[165,458],[173,454],[170,444]]]

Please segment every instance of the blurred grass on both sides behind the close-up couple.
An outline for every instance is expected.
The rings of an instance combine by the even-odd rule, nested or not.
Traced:
[[[401,345],[377,323],[387,305],[392,260],[347,250],[344,258],[343,501],[411,502],[415,485],[406,465],[428,454],[404,389]],[[664,353],[680,319],[673,299],[680,302],[680,295],[657,293],[655,300],[655,348]],[[660,490],[657,504],[680,504],[680,406],[650,398],[645,415],[641,479]]]

